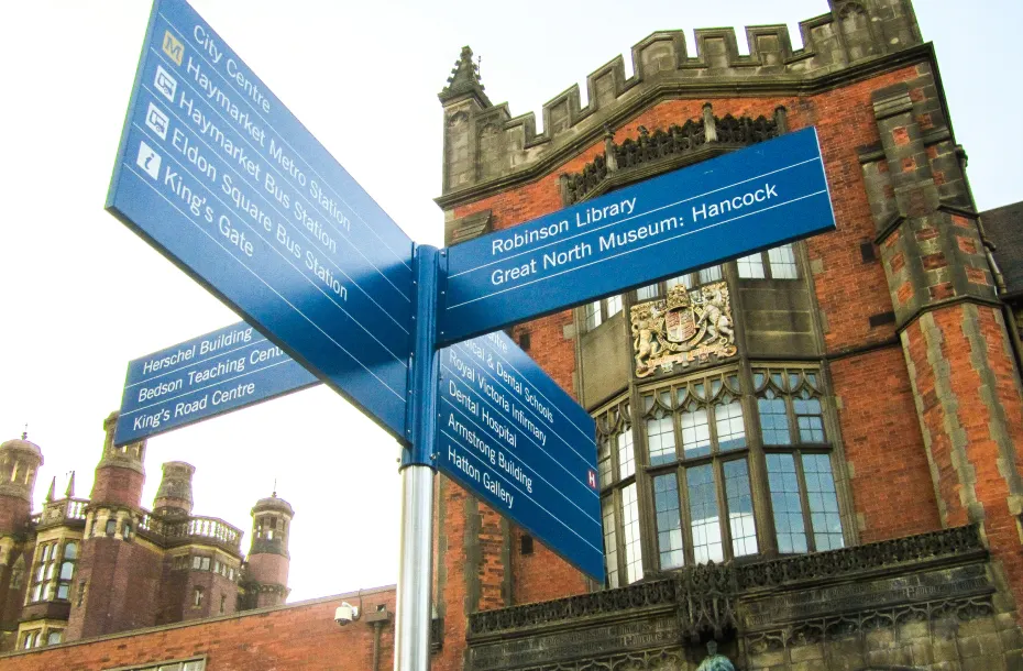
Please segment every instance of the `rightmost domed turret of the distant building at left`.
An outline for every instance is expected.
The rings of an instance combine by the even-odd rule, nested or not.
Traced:
[[[252,546],[246,572],[246,601],[252,608],[280,605],[287,598],[288,536],[292,531],[292,505],[274,492],[252,508]]]

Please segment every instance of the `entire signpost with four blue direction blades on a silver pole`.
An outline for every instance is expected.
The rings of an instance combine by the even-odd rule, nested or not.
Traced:
[[[604,578],[593,420],[493,331],[835,228],[806,129],[415,245],[184,0],[153,4],[107,209],[248,322],[133,361],[119,443],[320,380],[405,444],[400,671],[429,668],[435,469]]]

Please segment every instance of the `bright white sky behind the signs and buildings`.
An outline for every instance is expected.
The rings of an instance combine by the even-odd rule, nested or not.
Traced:
[[[494,102],[541,105],[657,30],[788,23],[825,0],[779,3],[337,2],[194,0],[224,41],[417,242],[440,245],[441,107],[464,44]],[[145,0],[7,3],[0,44],[0,440],[29,437],[58,494],[76,471],[88,496],[102,419],[129,360],[237,317],[103,209],[150,13]],[[624,8],[638,8],[627,10]],[[983,11],[980,11],[983,8]],[[917,0],[935,43],[978,205],[1023,199],[1010,152],[1018,0]],[[740,50],[745,32],[739,33]],[[725,110],[719,110],[724,112]],[[1010,120],[1007,123],[1007,120]],[[160,464],[197,468],[195,513],[245,530],[270,494],[297,512],[290,601],[396,581],[396,443],[324,387],[210,419],[148,443],[143,505]]]

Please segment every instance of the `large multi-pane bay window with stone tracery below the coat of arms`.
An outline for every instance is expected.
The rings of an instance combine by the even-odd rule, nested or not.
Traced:
[[[627,396],[597,413],[607,585],[842,548],[824,397],[816,367],[732,364],[640,387],[638,411]]]

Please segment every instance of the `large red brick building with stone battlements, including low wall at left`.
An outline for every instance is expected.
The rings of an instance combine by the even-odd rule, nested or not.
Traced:
[[[542,133],[463,50],[448,244],[811,125],[837,230],[510,329],[597,419],[607,584],[438,479],[435,669],[1023,669],[1020,210],[977,211],[910,2],[828,7],[802,50],[784,26],[747,29],[749,55],[653,33]],[[346,628],[334,597],[0,668],[369,669],[391,600]]]

